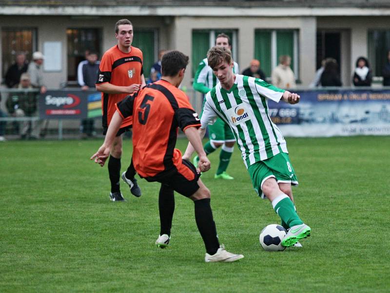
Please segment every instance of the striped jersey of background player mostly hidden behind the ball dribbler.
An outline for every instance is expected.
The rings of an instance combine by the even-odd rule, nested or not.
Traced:
[[[234,62],[233,73],[238,73],[238,64]],[[209,66],[207,58],[199,63],[196,69],[193,87],[195,90],[206,94],[218,83],[218,79],[213,74],[213,69]]]

